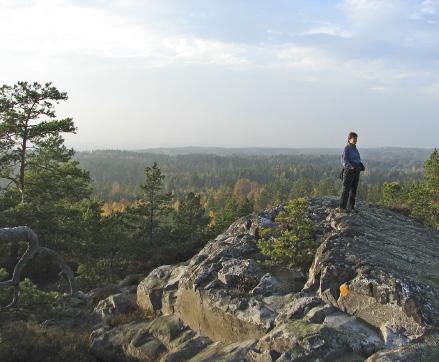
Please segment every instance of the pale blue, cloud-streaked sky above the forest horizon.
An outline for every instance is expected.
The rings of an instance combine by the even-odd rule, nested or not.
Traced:
[[[76,149],[439,145],[439,0],[0,0]]]

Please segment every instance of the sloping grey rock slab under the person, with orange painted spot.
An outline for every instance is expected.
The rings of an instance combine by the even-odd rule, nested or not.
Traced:
[[[407,341],[439,325],[439,232],[390,210],[326,219],[329,230],[310,268],[307,290]],[[340,286],[349,288],[340,296]],[[401,340],[401,338],[400,338]]]

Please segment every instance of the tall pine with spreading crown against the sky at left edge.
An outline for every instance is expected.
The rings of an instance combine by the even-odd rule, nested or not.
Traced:
[[[18,82],[0,88],[0,177],[9,180],[25,199],[26,171],[43,167],[33,155],[49,151],[50,158],[65,160],[72,156],[63,146],[60,133],[74,133],[71,118],[57,120],[54,105],[67,100],[51,83]],[[45,165],[47,166],[47,165]]]

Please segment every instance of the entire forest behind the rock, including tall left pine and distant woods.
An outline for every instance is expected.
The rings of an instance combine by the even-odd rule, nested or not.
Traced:
[[[81,288],[186,260],[240,216],[339,193],[334,154],[75,154],[63,138],[76,131],[73,120],[55,114],[65,100],[50,83],[0,88],[0,225],[30,226]],[[367,159],[360,194],[437,227],[437,152],[424,174],[418,154],[398,151]],[[1,246],[6,272],[24,247]]]

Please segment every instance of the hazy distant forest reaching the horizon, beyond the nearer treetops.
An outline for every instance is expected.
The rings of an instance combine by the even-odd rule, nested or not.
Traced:
[[[384,182],[419,180],[424,161],[432,152],[411,148],[359,150],[366,165],[359,196],[370,202],[381,199]],[[298,196],[338,194],[340,152],[187,147],[83,151],[74,158],[90,171],[95,196],[110,209],[136,199],[144,168],[157,162],[166,176],[165,191],[179,197],[190,191],[200,193],[207,209],[224,207],[230,196],[248,198],[254,209],[259,210]]]

